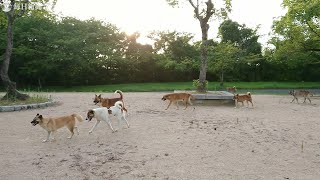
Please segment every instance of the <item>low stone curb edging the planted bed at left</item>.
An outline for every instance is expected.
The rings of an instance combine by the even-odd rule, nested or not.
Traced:
[[[53,106],[55,104],[57,104],[57,102],[49,101],[49,102],[38,103],[38,104],[0,106],[0,112],[12,112],[12,111],[21,111],[21,110],[28,110],[28,109],[46,108],[46,107],[49,107],[49,106]]]

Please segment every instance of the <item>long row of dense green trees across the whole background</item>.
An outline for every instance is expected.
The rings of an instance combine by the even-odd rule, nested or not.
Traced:
[[[316,7],[316,3],[310,4],[311,10]],[[311,29],[302,32],[309,27],[295,23],[304,17],[298,13],[300,6],[295,8],[295,15],[275,22],[276,34],[270,42],[276,48],[266,49],[263,57],[256,29],[223,22],[219,31],[222,42],[207,41],[208,81],[319,81],[319,53],[307,51],[318,47],[319,38]],[[307,12],[309,16],[317,14],[311,12]],[[199,78],[202,42],[194,42],[191,34],[153,32],[149,37],[154,43],[143,45],[137,41],[138,32],[126,35],[110,23],[32,13],[15,21],[9,75],[18,88]],[[293,21],[291,16],[298,17]],[[6,20],[4,13],[0,13],[0,62],[6,48],[6,23],[1,20]]]

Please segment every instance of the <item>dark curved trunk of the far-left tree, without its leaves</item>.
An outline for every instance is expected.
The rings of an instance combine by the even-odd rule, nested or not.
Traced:
[[[9,65],[10,65],[10,58],[12,54],[12,48],[13,48],[13,21],[14,21],[14,11],[11,10],[6,13],[8,18],[8,28],[7,28],[7,48],[6,48],[6,54],[5,59],[1,66],[0,76],[1,80],[4,84],[4,86],[7,89],[7,94],[3,97],[3,99],[20,99],[25,100],[29,96],[26,94],[22,94],[17,91],[16,83],[12,82],[9,78],[8,71],[9,71]]]

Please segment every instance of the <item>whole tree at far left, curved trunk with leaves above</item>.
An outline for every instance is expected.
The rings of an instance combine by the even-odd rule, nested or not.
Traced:
[[[53,5],[56,3],[57,0],[53,0]],[[49,0],[40,0],[39,2],[42,3],[48,3]],[[36,1],[33,1],[33,3],[36,3]],[[10,80],[10,77],[8,75],[9,71],[9,65],[12,55],[12,48],[13,48],[13,24],[14,21],[26,14],[28,7],[31,8],[35,7],[36,4],[30,4],[29,0],[24,1],[16,1],[16,0],[9,0],[9,1],[1,1],[2,6],[0,7],[0,11],[4,11],[6,17],[7,17],[7,44],[6,44],[6,50],[4,55],[4,60],[2,62],[1,70],[0,70],[0,76],[1,80],[4,84],[4,86],[7,89],[7,94],[3,98],[17,98],[21,100],[25,100],[28,98],[28,95],[22,94],[17,90],[16,83]],[[19,7],[19,8],[17,8]]]

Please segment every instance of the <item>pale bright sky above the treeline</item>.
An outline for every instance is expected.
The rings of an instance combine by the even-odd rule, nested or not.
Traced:
[[[260,26],[259,42],[266,46],[274,18],[285,14],[281,3],[281,0],[232,0],[229,17],[252,29]],[[140,43],[148,43],[144,37],[152,31],[176,30],[191,33],[196,41],[201,40],[199,21],[187,2],[173,8],[166,0],[58,0],[55,12],[81,20],[94,17],[115,24],[127,34],[140,32]],[[209,24],[209,38],[217,39],[220,22],[213,19]]]

